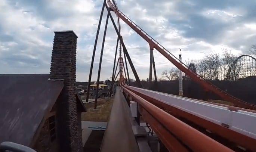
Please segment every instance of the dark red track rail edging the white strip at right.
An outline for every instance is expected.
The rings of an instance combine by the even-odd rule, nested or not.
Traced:
[[[133,89],[135,87],[131,87],[131,86],[123,86],[123,88],[126,88],[127,90],[133,92],[137,96],[142,97],[146,101],[148,101],[148,102],[152,103],[153,105],[157,106],[158,108],[168,112],[169,114],[174,115],[175,117],[185,118],[186,120],[193,122],[194,124],[204,128],[205,130],[209,130],[213,134],[218,134],[218,136],[225,138],[226,141],[230,141],[228,144],[230,145],[230,143],[232,143],[232,147],[241,146],[245,149],[248,149],[251,151],[256,151],[256,144],[255,144],[256,139],[253,137],[249,137],[245,134],[231,130],[230,128],[228,128],[229,126],[227,126],[225,124],[224,125],[216,124],[212,121],[209,121],[204,118],[198,117],[197,115],[191,114],[191,113],[185,111],[184,109],[180,109],[174,105],[172,106],[170,104],[167,104],[163,100],[158,99],[154,96],[153,92],[155,92],[155,91],[148,90],[149,93],[145,94],[139,90],[146,90],[146,89]],[[164,93],[159,93],[159,94],[164,95]],[[188,100],[188,99],[184,99],[184,100]],[[189,99],[189,100],[191,100],[191,99]],[[195,100],[195,101],[197,101],[197,100]],[[191,100],[191,102],[193,102],[193,101]],[[206,103],[206,104],[209,104],[209,103]],[[215,105],[213,105],[213,106],[215,106]],[[221,105],[216,105],[216,106],[221,106]],[[232,107],[232,106],[228,106],[226,108],[229,108],[229,110],[234,110],[234,111],[247,110],[247,109],[236,108],[236,107]],[[252,112],[252,114],[255,115],[255,111],[249,110],[249,111],[245,111],[245,112],[248,112],[248,114],[250,112]],[[216,114],[216,115],[221,115],[221,114]],[[222,116],[222,117],[225,117],[225,116]],[[247,125],[249,125],[249,124],[247,124]]]

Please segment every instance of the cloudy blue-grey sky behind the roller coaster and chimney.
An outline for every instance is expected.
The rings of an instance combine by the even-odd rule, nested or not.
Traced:
[[[178,58],[202,59],[256,44],[255,0],[117,0],[118,9]],[[0,0],[0,74],[49,73],[54,32],[73,30],[77,81],[88,81],[103,0]],[[114,12],[111,13],[116,22]],[[92,81],[97,80],[107,10],[104,10]],[[141,79],[149,77],[149,45],[121,21],[121,34]],[[112,75],[117,34],[108,22],[100,80]],[[157,77],[173,67],[154,50]],[[129,69],[131,78],[134,78]],[[154,76],[153,76],[154,77]]]

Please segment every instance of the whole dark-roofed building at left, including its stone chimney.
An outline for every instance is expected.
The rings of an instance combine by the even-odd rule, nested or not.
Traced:
[[[37,152],[82,152],[81,112],[75,90],[77,36],[56,31],[50,74],[0,75],[0,143]]]

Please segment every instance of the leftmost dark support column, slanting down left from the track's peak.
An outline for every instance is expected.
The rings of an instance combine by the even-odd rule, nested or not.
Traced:
[[[99,17],[99,24],[98,24],[97,34],[96,34],[96,38],[95,38],[95,42],[94,42],[94,48],[93,48],[93,53],[92,53],[92,62],[91,62],[89,80],[88,80],[88,85],[87,85],[86,102],[88,102],[89,94],[90,94],[90,83],[91,83],[91,78],[92,78],[92,69],[93,69],[93,63],[94,63],[97,41],[98,41],[98,37],[99,37],[99,29],[101,28],[101,19],[102,19],[102,15],[103,15],[103,12],[104,12],[104,5],[105,5],[105,2],[103,3],[102,9],[101,9],[101,16]]]

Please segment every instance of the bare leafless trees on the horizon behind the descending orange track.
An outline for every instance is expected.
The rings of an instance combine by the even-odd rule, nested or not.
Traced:
[[[250,53],[256,56],[256,45],[252,46]],[[187,60],[185,64],[189,66],[189,64],[193,63],[196,69],[195,72],[206,80],[225,80],[231,73],[232,77],[238,77],[242,65],[236,64],[232,66],[237,57],[230,50],[222,49],[222,55],[212,53],[200,60]],[[179,69],[175,67],[163,71],[161,80],[179,80]]]

